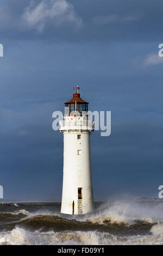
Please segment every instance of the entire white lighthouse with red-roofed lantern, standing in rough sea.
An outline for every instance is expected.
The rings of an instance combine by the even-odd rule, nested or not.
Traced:
[[[61,213],[87,214],[93,210],[90,135],[93,121],[89,103],[74,88],[73,97],[65,103],[60,131],[64,135],[64,168]]]

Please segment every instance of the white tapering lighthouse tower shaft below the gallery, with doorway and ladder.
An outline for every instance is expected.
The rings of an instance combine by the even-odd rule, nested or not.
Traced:
[[[64,130],[64,173],[61,213],[93,211],[89,130]]]

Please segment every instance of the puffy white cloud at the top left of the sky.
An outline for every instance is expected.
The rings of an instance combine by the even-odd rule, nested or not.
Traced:
[[[22,15],[25,26],[41,33],[48,23],[61,26],[67,23],[75,27],[82,26],[82,20],[76,15],[73,5],[66,0],[42,0],[35,5],[34,1],[26,7]]]

